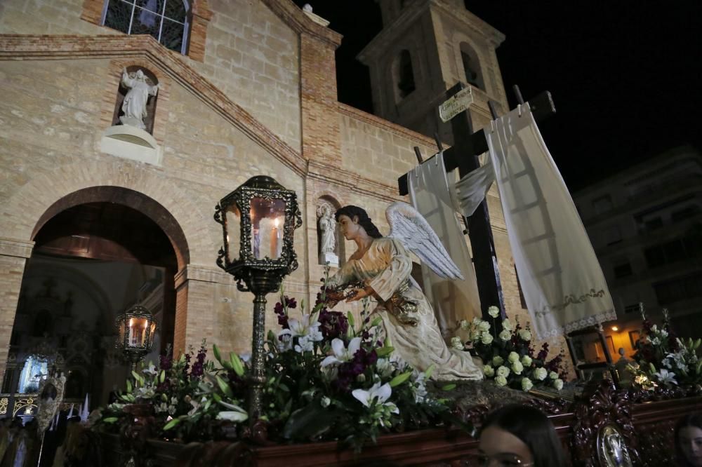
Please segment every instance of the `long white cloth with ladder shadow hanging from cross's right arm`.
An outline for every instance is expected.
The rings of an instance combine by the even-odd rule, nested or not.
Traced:
[[[607,283],[528,104],[486,128],[489,157],[456,184],[469,216],[497,182],[517,274],[537,337],[616,319]]]

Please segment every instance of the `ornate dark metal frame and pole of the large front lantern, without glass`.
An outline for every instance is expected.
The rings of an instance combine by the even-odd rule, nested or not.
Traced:
[[[277,259],[256,258],[251,243],[251,200],[263,198],[267,201],[281,200],[283,210],[283,245]],[[231,260],[227,210],[235,205],[239,210],[239,256]],[[220,200],[215,207],[214,219],[223,229],[223,247],[217,257],[217,265],[232,274],[241,292],[253,292],[253,336],[251,337],[251,393],[249,395],[249,418],[255,423],[262,412],[263,384],[265,384],[265,296],[279,290],[289,273],[298,268],[298,257],[293,249],[295,229],[303,224],[295,191],[284,188],[271,177],[251,177],[239,188]]]

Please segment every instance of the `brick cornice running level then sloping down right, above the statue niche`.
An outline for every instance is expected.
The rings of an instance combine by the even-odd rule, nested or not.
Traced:
[[[300,15],[302,14],[300,11]],[[151,36],[0,35],[0,60],[75,60],[115,57],[135,57],[153,63],[274,158],[298,175],[305,174],[305,161],[298,151],[283,142],[263,123],[207,81],[187,64],[187,59],[183,55],[167,50]]]

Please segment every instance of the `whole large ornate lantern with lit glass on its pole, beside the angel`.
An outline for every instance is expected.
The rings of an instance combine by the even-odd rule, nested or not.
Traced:
[[[249,400],[253,424],[263,405],[265,296],[278,290],[284,276],[297,269],[293,234],[303,221],[295,191],[265,176],[250,178],[222,198],[214,217],[224,234],[217,265],[234,276],[239,290],[256,296]]]

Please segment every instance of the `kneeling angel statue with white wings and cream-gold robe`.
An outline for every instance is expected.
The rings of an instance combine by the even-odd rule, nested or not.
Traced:
[[[387,237],[357,206],[344,206],[335,217],[343,236],[354,241],[358,249],[326,286],[360,283],[357,292],[346,301],[376,299],[378,306],[373,313],[382,318],[385,334],[397,355],[416,370],[425,371],[434,365],[433,379],[482,379],[479,358],[446,346],[431,304],[410,276],[412,260],[405,248],[439,276],[462,278],[458,266],[419,212],[407,203],[392,203],[385,211],[390,224]]]

